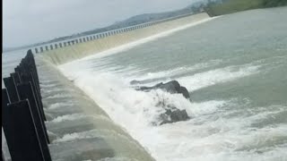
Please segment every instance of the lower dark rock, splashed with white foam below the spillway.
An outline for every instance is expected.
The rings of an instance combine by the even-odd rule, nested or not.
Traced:
[[[161,114],[161,124],[165,123],[176,123],[181,121],[187,121],[190,117],[187,115],[186,110],[176,109],[175,111],[171,111],[168,109],[164,114]]]

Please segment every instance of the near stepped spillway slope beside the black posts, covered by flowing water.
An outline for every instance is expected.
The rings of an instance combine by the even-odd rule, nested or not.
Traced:
[[[53,65],[37,64],[53,160],[153,160]]]

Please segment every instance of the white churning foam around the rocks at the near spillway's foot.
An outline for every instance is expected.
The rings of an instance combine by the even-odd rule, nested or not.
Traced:
[[[95,100],[112,120],[139,140],[157,160],[229,160],[230,158],[257,160],[258,158],[284,157],[282,147],[268,151],[265,145],[272,142],[273,137],[277,140],[287,139],[284,133],[286,125],[260,130],[249,127],[250,124],[257,123],[266,116],[283,112],[283,106],[278,108],[279,111],[232,117],[229,115],[236,112],[234,111],[236,109],[230,109],[227,112],[226,108],[242,106],[239,105],[240,100],[189,102],[181,95],[171,95],[162,90],[136,91],[129,85],[129,81],[134,77],[127,78],[126,73],[123,72],[103,72],[102,69],[74,71],[70,70],[72,66],[76,64],[71,64],[71,66],[65,64],[61,66],[61,70],[70,80],[74,80],[76,86]],[[195,72],[206,66],[208,65],[199,65],[198,68],[190,67],[189,71]],[[188,91],[194,91],[257,74],[260,72],[260,67],[261,64],[254,63],[227,66],[180,77],[178,81],[187,87]],[[182,72],[188,72],[188,70],[178,68],[172,72],[158,72],[160,74],[157,75],[147,73],[141,78],[146,80],[169,77]],[[162,108],[156,106],[161,100],[177,106],[178,109],[186,109],[187,114],[193,119],[187,122],[154,126],[153,123],[158,122],[157,116],[162,113]],[[264,107],[264,109],[268,108]],[[248,148],[257,149],[258,152],[247,152],[245,149]],[[279,155],[273,156],[273,150],[278,151]],[[263,153],[262,151],[268,152],[259,156],[259,153]]]

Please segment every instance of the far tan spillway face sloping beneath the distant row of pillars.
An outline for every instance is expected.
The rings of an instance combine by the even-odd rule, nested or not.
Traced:
[[[80,43],[78,40],[74,45],[66,47],[58,47],[57,49],[46,50],[40,53],[41,56],[45,56],[53,64],[65,64],[67,62],[83,58],[87,55],[97,54],[103,51],[107,51],[114,47],[120,47],[125,44],[138,41],[143,38],[149,38],[154,35],[160,34],[168,30],[174,30],[177,28],[182,28],[184,26],[189,26],[197,24],[199,22],[209,21],[211,18],[206,13],[198,13],[194,15],[189,15],[185,17],[179,17],[178,19],[171,19],[170,21],[163,21],[152,23],[153,25],[138,28],[136,30],[126,30],[126,32],[119,32],[112,34],[104,34],[106,37],[91,39],[90,36],[85,38],[90,38],[89,41],[84,41]],[[114,33],[114,32],[113,32]],[[81,39],[81,38],[80,38]],[[83,39],[83,38],[82,38]]]

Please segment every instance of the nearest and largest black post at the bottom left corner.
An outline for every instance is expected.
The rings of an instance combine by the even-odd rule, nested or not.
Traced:
[[[23,100],[2,106],[2,113],[4,134],[12,160],[45,161],[30,114],[29,101]]]

